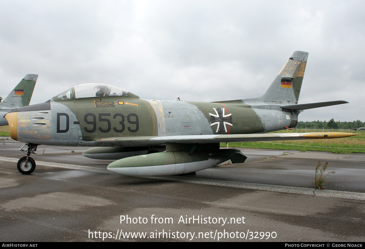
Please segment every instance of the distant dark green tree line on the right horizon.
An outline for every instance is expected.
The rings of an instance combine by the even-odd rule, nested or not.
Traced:
[[[360,120],[356,120],[353,122],[340,122],[340,121],[335,121],[334,119],[331,119],[330,121],[326,122],[326,120],[324,120],[324,122],[322,121],[312,121],[312,122],[303,122],[303,121],[298,121],[298,124],[296,126],[298,129],[304,129],[307,127],[307,129],[314,129],[314,128],[318,128],[318,129],[322,129],[322,127],[324,129],[356,129],[356,128],[360,128],[360,127],[365,127],[365,123],[361,122]]]

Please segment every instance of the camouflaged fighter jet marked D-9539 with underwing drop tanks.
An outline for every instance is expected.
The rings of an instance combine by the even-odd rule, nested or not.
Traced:
[[[83,155],[116,160],[108,170],[121,175],[162,176],[200,171],[231,160],[244,162],[239,149],[220,142],[349,137],[350,133],[277,133],[295,127],[310,108],[348,103],[298,104],[308,53],[295,51],[268,90],[255,99],[211,103],[146,100],[106,84],[82,84],[45,103],[5,115],[11,137],[25,142],[18,170],[30,174],[38,145],[98,146]],[[356,134],[355,134],[356,135]],[[166,152],[165,152],[166,150]]]

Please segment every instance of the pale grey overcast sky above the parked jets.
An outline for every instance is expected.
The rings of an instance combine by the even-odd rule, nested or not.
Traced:
[[[365,1],[0,0],[0,96],[39,74],[31,104],[104,83],[144,99],[261,96],[309,53],[300,121],[364,122]]]

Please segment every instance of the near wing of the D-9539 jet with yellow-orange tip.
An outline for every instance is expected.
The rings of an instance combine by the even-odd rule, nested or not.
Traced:
[[[96,142],[105,146],[152,146],[166,143],[227,143],[280,141],[301,139],[329,139],[351,137],[358,134],[344,132],[315,133],[265,133],[265,134],[226,134],[226,135],[180,135],[180,136],[142,136],[142,137],[111,137],[101,138]]]

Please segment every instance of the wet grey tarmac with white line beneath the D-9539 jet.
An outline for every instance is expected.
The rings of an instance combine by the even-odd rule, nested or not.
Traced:
[[[243,149],[243,164],[126,177],[86,148],[38,146],[22,175],[22,146],[0,141],[1,241],[365,240],[365,154]],[[318,160],[336,173],[314,195]]]

